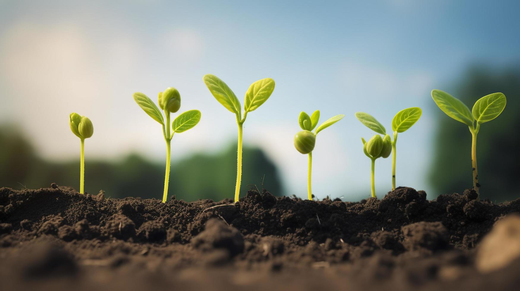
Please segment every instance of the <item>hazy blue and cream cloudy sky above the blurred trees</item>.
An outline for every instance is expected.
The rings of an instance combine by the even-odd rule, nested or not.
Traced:
[[[438,110],[430,91],[448,90],[471,63],[518,61],[518,11],[518,1],[0,1],[0,122],[20,124],[42,155],[66,160],[79,151],[67,124],[76,111],[95,126],[90,156],[137,151],[162,161],[161,128],[132,93],[155,99],[174,86],[181,111],[202,111],[196,128],[174,138],[176,160],[236,139],[235,118],[204,74],[222,78],[242,103],[252,82],[271,77],[276,89],[248,115],[244,142],[277,163],[285,194],[306,193],[307,158],[292,144],[300,111],[319,109],[321,121],[346,114],[317,140],[313,192],[357,200],[370,191],[360,137],[372,132],[354,113],[390,128],[396,112],[415,106],[423,116],[399,136],[398,184],[428,192]],[[420,169],[407,171],[411,163]],[[380,196],[390,168],[389,159],[376,162]]]

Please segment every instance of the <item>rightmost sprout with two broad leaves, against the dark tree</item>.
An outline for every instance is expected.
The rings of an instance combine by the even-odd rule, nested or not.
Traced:
[[[475,102],[473,110],[470,111],[459,99],[449,95],[445,91],[432,90],[433,101],[440,110],[456,121],[462,122],[470,128],[472,135],[471,143],[471,162],[473,166],[473,189],[479,194],[478,173],[477,173],[477,134],[480,124],[497,118],[505,108],[506,99],[502,93],[493,93],[484,96]],[[476,125],[475,125],[476,121]]]

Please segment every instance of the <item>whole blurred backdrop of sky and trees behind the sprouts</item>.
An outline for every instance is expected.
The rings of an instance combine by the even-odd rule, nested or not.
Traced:
[[[200,123],[174,136],[170,196],[232,197],[235,116],[202,82],[212,73],[243,104],[249,85],[271,77],[270,99],[244,124],[241,195],[255,184],[275,195],[306,196],[307,157],[293,146],[300,111],[321,120],[346,114],[320,133],[313,192],[358,201],[370,194],[361,137],[374,133],[354,113],[388,129],[401,109],[423,115],[399,135],[397,184],[428,199],[472,187],[471,134],[433,102],[433,88],[471,109],[503,92],[503,113],[478,135],[481,193],[518,197],[520,158],[518,1],[6,1],[0,0],[0,187],[79,188],[80,140],[71,112],[89,117],[85,190],[108,197],[160,199],[161,126],[132,99],[176,87],[179,112]],[[176,116],[174,114],[173,116]],[[391,158],[376,162],[376,192],[391,188]]]

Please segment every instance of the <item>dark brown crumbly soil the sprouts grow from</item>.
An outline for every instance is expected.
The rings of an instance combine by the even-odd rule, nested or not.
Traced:
[[[497,205],[466,190],[428,201],[400,187],[357,203],[266,190],[231,202],[0,188],[0,289],[520,286],[520,199]]]

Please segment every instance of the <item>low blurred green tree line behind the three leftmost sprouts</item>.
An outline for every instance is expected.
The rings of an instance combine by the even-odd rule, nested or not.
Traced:
[[[60,186],[79,188],[80,161],[53,162],[38,156],[16,126],[0,126],[0,187],[38,189]],[[277,169],[258,148],[244,147],[241,195],[256,184],[275,195],[282,191]],[[161,199],[164,187],[163,163],[151,162],[138,154],[121,160],[85,162],[85,191],[106,197],[128,196]],[[172,164],[169,195],[177,199],[222,200],[235,194],[237,146],[233,144],[216,154],[195,154]],[[170,197],[168,197],[170,199]]]

